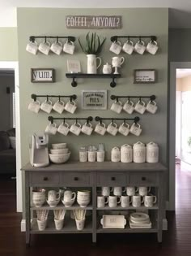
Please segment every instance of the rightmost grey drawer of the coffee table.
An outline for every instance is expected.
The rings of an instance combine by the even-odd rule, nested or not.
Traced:
[[[129,184],[151,185],[159,184],[159,176],[157,173],[134,173],[129,175]]]

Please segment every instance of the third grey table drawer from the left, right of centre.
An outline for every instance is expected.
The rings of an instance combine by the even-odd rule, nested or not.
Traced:
[[[97,174],[97,185],[123,186],[127,184],[127,176],[122,172],[109,172]]]

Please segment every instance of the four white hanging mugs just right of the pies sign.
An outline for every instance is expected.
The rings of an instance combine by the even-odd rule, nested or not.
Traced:
[[[149,101],[144,102],[142,99],[139,99],[138,102],[134,103],[130,100],[125,102],[123,105],[122,102],[116,100],[114,103],[112,103],[111,110],[116,112],[117,114],[120,114],[122,110],[124,110],[126,113],[131,115],[134,111],[138,112],[139,114],[144,114],[145,111],[155,114],[158,109],[158,106],[156,105],[155,101]]]

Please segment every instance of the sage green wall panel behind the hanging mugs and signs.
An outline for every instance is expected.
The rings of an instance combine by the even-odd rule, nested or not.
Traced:
[[[31,35],[54,35],[84,37],[88,32],[85,29],[67,29],[65,25],[66,15],[122,15],[122,28],[118,30],[99,30],[94,32],[107,37],[104,49],[100,54],[103,63],[111,63],[115,54],[109,52],[112,35],[156,35],[159,39],[159,53],[155,56],[144,54],[143,56],[133,54],[131,56],[121,53],[125,57],[125,63],[121,67],[121,79],[117,80],[117,87],[112,89],[110,80],[106,79],[81,79],[76,88],[71,87],[71,80],[66,78],[66,60],[79,59],[82,71],[87,71],[87,57],[79,48],[76,41],[76,50],[73,56],[69,54],[28,54],[25,48],[28,37]],[[168,98],[168,9],[45,9],[45,8],[19,8],[18,9],[18,39],[19,39],[19,86],[20,86],[20,118],[21,118],[21,156],[22,164],[29,160],[28,136],[35,131],[44,130],[48,124],[48,114],[40,112],[38,115],[28,111],[28,103],[31,102],[32,93],[40,94],[71,94],[78,95],[78,111],[74,116],[87,117],[89,115],[100,115],[103,117],[129,117],[125,112],[117,115],[109,110],[112,101],[111,94],[129,95],[151,95],[157,96],[159,111],[156,115],[145,114],[140,116],[142,124],[142,135],[135,137],[123,137],[117,135],[112,137],[106,135],[101,137],[93,134],[91,137],[80,135],[76,137],[69,135],[63,137],[57,134],[50,137],[51,142],[66,141],[72,152],[72,158],[79,158],[79,147],[81,145],[96,144],[104,142],[107,150],[107,158],[114,145],[129,143],[133,145],[137,141],[144,143],[155,141],[160,147],[160,161],[166,163],[167,154],[167,98]],[[125,40],[121,40],[125,41]],[[39,42],[39,41],[38,41]],[[56,83],[54,84],[32,84],[30,82],[31,67],[53,67],[56,70]],[[134,69],[154,68],[158,72],[158,82],[154,85],[134,85]],[[101,72],[101,69],[99,70]],[[107,89],[108,110],[107,111],[83,111],[80,108],[81,90],[83,89]],[[51,113],[53,116],[60,116]],[[136,114],[132,115],[135,116]],[[64,113],[62,116],[71,116]],[[132,117],[130,116],[130,117]],[[58,124],[59,122],[57,122]],[[95,123],[95,122],[94,122]],[[106,122],[107,123],[107,122]],[[131,122],[129,122],[131,123]],[[70,123],[71,124],[71,123]],[[95,123],[96,124],[96,123]],[[108,124],[108,123],[107,123]],[[118,123],[119,124],[119,123]]]

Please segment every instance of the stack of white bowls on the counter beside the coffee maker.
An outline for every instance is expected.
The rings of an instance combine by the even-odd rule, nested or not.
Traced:
[[[71,154],[66,146],[66,143],[52,144],[52,149],[49,154],[50,161],[53,163],[66,163]]]

